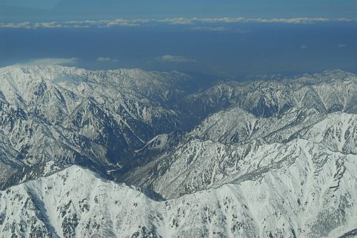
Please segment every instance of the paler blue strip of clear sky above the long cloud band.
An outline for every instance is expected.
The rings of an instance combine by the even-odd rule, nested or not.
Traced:
[[[0,22],[163,17],[356,17],[356,0],[0,0]]]

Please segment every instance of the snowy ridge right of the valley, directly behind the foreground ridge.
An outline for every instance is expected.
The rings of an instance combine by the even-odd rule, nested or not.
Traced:
[[[260,180],[270,170],[308,158],[311,172],[318,172],[326,160],[356,160],[356,124],[357,115],[347,113],[293,109],[267,119],[233,108],[211,115],[176,146],[129,172],[125,181],[171,199]]]

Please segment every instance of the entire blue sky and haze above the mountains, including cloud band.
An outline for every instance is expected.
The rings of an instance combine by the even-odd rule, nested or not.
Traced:
[[[356,73],[357,0],[0,0],[0,67],[15,63]]]

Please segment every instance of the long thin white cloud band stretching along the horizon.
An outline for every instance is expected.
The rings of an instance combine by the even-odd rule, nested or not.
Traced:
[[[115,26],[141,26],[146,24],[213,24],[213,23],[283,23],[283,24],[314,24],[326,21],[357,21],[357,19],[328,19],[328,18],[243,18],[243,17],[222,17],[222,18],[167,18],[167,19],[113,19],[113,20],[86,20],[86,21],[51,21],[51,22],[22,22],[22,23],[0,23],[1,28],[9,29],[38,29],[38,28],[88,28],[88,27],[115,27]]]

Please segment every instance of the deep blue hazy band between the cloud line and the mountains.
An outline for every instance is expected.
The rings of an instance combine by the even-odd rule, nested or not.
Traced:
[[[336,68],[356,73],[356,29],[354,21],[0,29],[0,66],[51,58],[51,62],[90,69],[144,68],[221,76]]]

